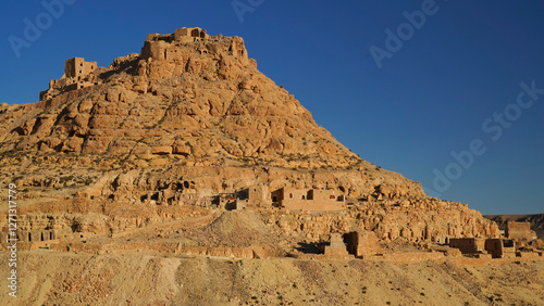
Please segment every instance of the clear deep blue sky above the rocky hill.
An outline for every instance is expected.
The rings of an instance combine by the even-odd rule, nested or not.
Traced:
[[[243,37],[366,161],[483,214],[544,213],[543,1],[62,1],[2,3],[0,102],[197,26]]]

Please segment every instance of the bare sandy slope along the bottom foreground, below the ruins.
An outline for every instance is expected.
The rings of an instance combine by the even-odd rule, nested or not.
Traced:
[[[0,305],[544,305],[544,260],[415,264],[232,259],[131,252],[18,253]]]

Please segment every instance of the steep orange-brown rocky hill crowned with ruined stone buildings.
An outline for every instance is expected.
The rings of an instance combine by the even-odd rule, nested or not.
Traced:
[[[79,60],[42,101],[0,106],[0,181],[16,183],[29,206],[73,197],[104,207],[206,206],[215,194],[257,184],[327,188],[342,190],[360,212],[351,217],[368,219],[359,226],[384,239],[498,232],[477,212],[429,199],[420,183],[342,145],[257,69],[239,37],[184,28],[149,35],[140,54],[106,68],[77,71]],[[415,209],[419,216],[408,214]],[[108,220],[96,219],[107,232]]]

